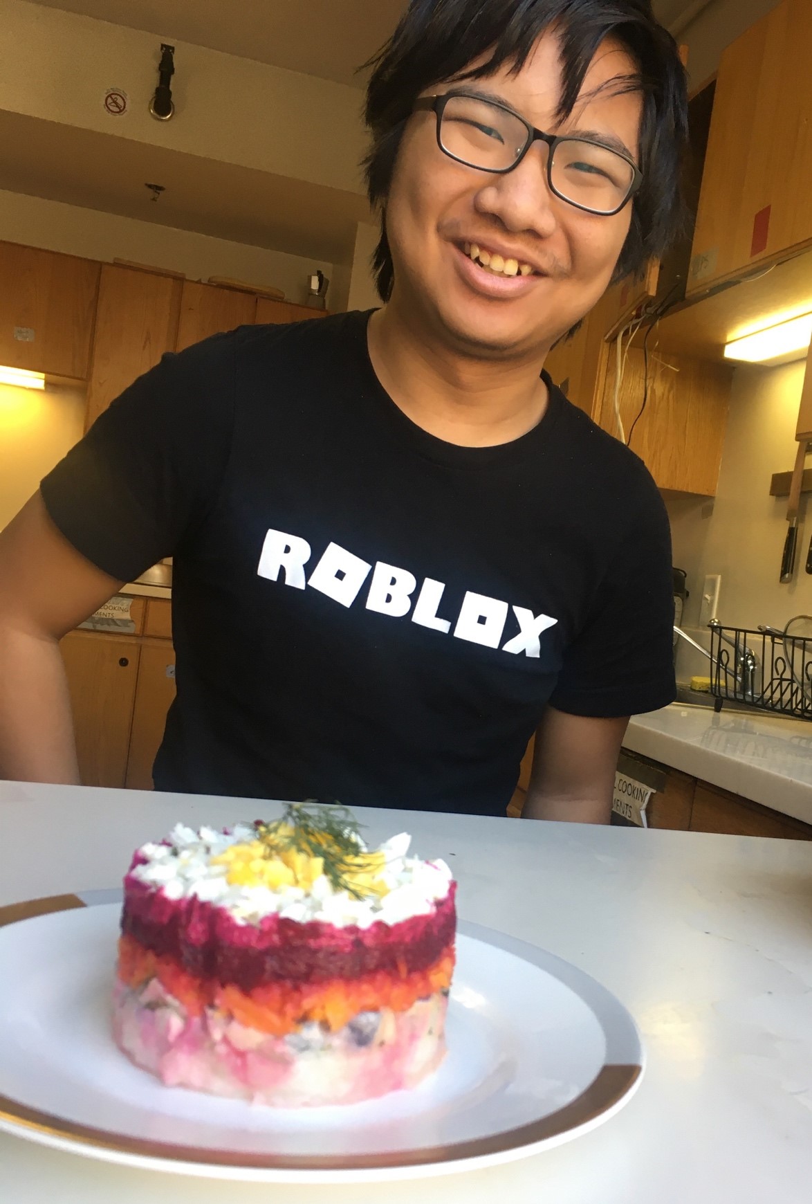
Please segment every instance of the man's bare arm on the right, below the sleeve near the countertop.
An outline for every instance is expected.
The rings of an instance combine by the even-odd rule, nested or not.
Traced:
[[[615,768],[629,720],[587,719],[547,707],[522,816],[609,824]]]

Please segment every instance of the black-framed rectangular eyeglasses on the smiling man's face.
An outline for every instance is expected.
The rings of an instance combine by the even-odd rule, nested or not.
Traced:
[[[546,142],[550,190],[587,213],[620,213],[642,183],[628,155],[589,138],[544,134],[496,100],[446,92],[421,96],[414,107],[437,113],[437,144],[444,154],[479,171],[504,175],[518,166],[534,142]]]

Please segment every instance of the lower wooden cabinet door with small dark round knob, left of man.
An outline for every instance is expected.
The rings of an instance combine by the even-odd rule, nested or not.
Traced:
[[[138,675],[135,638],[71,631],[60,643],[85,786],[123,786]]]

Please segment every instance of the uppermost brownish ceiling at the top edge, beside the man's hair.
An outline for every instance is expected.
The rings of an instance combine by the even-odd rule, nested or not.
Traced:
[[[358,66],[383,46],[407,7],[407,0],[35,2],[358,88],[363,85]],[[697,0],[653,0],[653,5],[664,25],[700,6]]]

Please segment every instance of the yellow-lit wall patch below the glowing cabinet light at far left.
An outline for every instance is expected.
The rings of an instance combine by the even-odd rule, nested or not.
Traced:
[[[83,389],[0,385],[0,530],[82,437]]]

